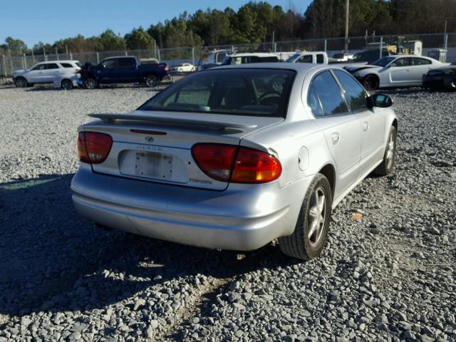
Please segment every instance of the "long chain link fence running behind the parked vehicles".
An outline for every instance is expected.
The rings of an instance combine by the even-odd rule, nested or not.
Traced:
[[[412,41],[421,41],[420,51],[410,48]],[[155,48],[149,50],[128,51],[103,51],[83,53],[58,53],[58,54],[31,54],[24,56],[0,55],[0,76],[11,77],[15,70],[31,68],[42,61],[56,61],[71,59],[81,63],[99,63],[103,59],[113,56],[136,56],[137,58],[156,58],[160,62],[168,63],[171,67],[180,63],[192,63],[197,65],[204,53],[219,49],[235,49],[237,53],[243,52],[289,52],[289,51],[326,51],[328,56],[334,53],[342,53],[344,38],[305,39],[299,41],[277,41],[253,44],[234,44],[224,46],[197,46],[182,48]],[[403,46],[405,53],[418,53],[428,56],[431,50],[440,50],[441,61],[456,61],[456,33],[432,33],[432,34],[407,34],[395,36],[358,36],[348,39],[348,51],[357,53],[366,48],[383,46]],[[285,56],[285,55],[284,55]]]

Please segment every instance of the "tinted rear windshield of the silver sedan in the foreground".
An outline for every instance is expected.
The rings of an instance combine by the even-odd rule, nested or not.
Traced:
[[[227,68],[183,78],[140,110],[285,117],[295,72]]]

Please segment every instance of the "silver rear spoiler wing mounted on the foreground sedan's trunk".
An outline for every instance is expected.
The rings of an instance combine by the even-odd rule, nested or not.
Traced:
[[[242,123],[223,123],[209,120],[199,120],[192,118],[163,118],[162,116],[142,115],[142,114],[88,114],[90,118],[98,118],[103,121],[113,122],[115,120],[143,121],[147,123],[164,123],[168,125],[184,124],[198,125],[206,128],[221,130],[224,128],[256,128],[258,125]]]

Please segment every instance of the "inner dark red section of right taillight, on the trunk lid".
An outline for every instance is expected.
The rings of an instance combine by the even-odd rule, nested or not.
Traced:
[[[193,159],[199,168],[214,180],[228,182],[237,146],[197,144],[192,147]]]

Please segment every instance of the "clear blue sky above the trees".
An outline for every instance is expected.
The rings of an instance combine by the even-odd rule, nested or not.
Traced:
[[[76,36],[98,36],[106,28],[124,35],[133,27],[145,28],[159,21],[172,19],[187,11],[197,9],[237,10],[248,0],[9,0],[1,1],[0,43],[7,36],[19,38],[31,47],[38,41],[53,43],[61,38]],[[293,6],[305,11],[311,0],[269,0],[271,5],[284,9]]]

